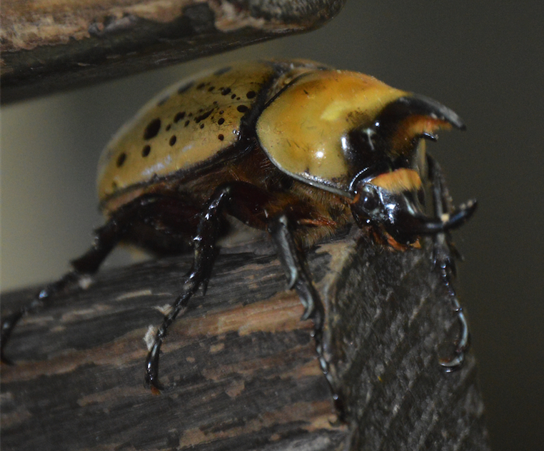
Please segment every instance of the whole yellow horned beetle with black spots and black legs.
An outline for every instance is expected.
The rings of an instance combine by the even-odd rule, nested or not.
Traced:
[[[312,61],[241,63],[168,88],[104,149],[98,191],[106,223],[91,248],[71,262],[74,270],[2,321],[2,360],[17,321],[96,273],[120,241],[162,252],[193,248],[181,294],[146,360],[146,385],[163,389],[161,343],[191,296],[206,288],[216,242],[233,217],[271,236],[288,286],[305,308],[303,319],[313,320],[326,374],[323,305],[303,250],[353,224],[398,250],[432,235],[433,263],[460,323],[455,355],[440,363],[457,368],[468,348],[468,326],[450,283],[456,255],[448,231],[465,222],[476,203],[453,208],[440,166],[425,152],[425,140],[444,128],[465,126],[430,98]],[[425,213],[426,186],[432,216]]]

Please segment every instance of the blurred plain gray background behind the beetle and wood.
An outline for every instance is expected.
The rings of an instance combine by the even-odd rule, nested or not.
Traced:
[[[468,124],[465,133],[442,133],[431,151],[454,198],[480,201],[455,237],[491,442],[494,450],[542,449],[543,23],[538,1],[351,0],[312,34],[2,108],[1,288],[56,278],[88,247],[101,223],[99,152],[169,83],[266,56],[363,71],[438,99]]]

